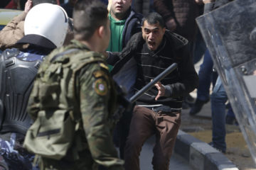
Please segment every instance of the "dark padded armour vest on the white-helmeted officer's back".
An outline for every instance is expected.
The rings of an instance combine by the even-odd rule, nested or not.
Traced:
[[[17,132],[26,135],[32,123],[26,113],[26,107],[41,60],[19,60],[19,54],[20,51],[13,48],[5,50],[0,57],[1,134]]]

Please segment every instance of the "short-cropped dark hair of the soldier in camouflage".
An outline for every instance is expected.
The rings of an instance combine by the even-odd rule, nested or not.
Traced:
[[[107,6],[99,0],[78,0],[73,11],[76,40],[88,40],[100,26],[107,26]]]

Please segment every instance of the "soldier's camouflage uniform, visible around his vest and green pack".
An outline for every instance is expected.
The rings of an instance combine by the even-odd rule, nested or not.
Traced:
[[[65,57],[61,56],[57,60],[70,62],[75,57],[79,58],[88,52],[88,48],[84,44],[73,40],[67,47],[54,50],[43,62],[38,74],[40,74],[41,69],[48,69],[49,61],[53,60],[53,57],[70,49],[77,50],[65,54]],[[80,128],[75,130],[73,143],[65,157],[60,160],[40,157],[41,169],[92,170],[97,169],[97,164],[107,166],[109,169],[123,169],[122,164],[124,162],[118,158],[112,142],[112,128],[114,127],[112,116],[115,108],[117,108],[117,92],[113,88],[114,83],[108,72],[104,57],[97,54],[91,56],[90,60],[97,60],[97,62],[90,62],[78,69],[73,82],[76,99],[66,102],[68,106],[76,107],[74,111],[81,114]],[[72,64],[71,62],[70,64]],[[64,86],[68,86],[68,84]],[[33,92],[35,92],[35,88],[31,93],[28,113],[36,119],[38,108],[47,108],[47,106],[44,106],[46,103],[40,103],[41,107],[37,107]],[[61,97],[59,100],[64,101],[65,98]]]

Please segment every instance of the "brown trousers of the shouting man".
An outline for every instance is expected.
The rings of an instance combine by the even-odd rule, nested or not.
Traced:
[[[129,136],[124,149],[126,170],[139,170],[139,154],[144,142],[156,135],[152,165],[154,170],[168,170],[178,128],[181,125],[180,112],[158,113],[135,106]]]

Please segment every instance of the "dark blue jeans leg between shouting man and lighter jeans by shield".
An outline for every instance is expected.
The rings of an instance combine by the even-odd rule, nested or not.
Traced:
[[[198,77],[199,77],[199,86],[197,91],[197,99],[200,101],[208,101],[210,96],[210,83],[217,78],[217,73],[213,73],[213,60],[210,57],[209,50],[206,50],[206,53],[203,57],[203,63],[200,66]]]

